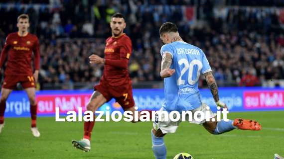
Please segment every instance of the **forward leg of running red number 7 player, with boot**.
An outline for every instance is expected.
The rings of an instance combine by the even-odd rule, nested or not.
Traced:
[[[89,103],[87,104],[87,110],[95,112],[100,106],[102,106],[107,99],[99,92],[94,91],[91,96]],[[84,122],[84,136],[82,140],[72,140],[72,145],[84,152],[89,152],[91,150],[91,135],[95,125],[95,114],[93,121]]]

